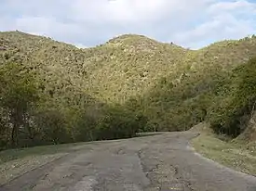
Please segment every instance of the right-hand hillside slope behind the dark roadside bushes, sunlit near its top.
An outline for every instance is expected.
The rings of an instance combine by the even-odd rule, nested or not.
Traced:
[[[218,88],[232,75],[232,70],[256,56],[256,38],[224,41],[188,52],[182,68],[163,76],[147,93],[133,100],[149,116],[154,129],[187,130],[205,121]],[[132,105],[128,103],[128,105]]]

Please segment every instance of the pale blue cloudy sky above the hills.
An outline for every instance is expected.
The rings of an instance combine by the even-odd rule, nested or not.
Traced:
[[[256,0],[0,0],[0,31],[91,47],[126,33],[198,49],[256,34]]]

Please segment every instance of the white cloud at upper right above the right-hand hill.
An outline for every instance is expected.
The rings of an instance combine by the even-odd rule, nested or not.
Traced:
[[[255,13],[256,5],[244,0],[213,4],[206,10],[208,19],[191,30],[176,34],[176,42],[199,48],[206,42],[243,38],[256,33]]]

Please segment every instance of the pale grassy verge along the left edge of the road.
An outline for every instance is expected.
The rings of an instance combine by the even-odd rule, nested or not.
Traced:
[[[55,159],[88,144],[75,143],[57,146],[34,146],[0,152],[0,185],[4,185],[25,172],[30,172]]]

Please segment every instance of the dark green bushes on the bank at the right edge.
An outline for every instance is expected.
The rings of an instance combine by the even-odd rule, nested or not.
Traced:
[[[231,79],[227,85],[219,88],[208,120],[217,133],[237,136],[241,134],[255,109],[256,103],[256,58],[237,67],[226,78]]]

